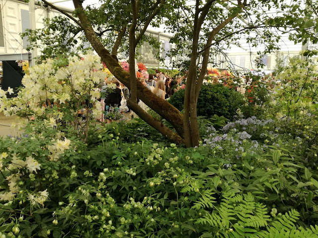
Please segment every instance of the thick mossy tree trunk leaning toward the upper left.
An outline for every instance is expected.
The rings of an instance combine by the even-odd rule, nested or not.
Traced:
[[[92,28],[90,22],[87,19],[87,16],[84,13],[80,0],[73,0],[74,6],[78,12],[79,21],[82,29],[85,32],[85,36],[88,41],[100,56],[101,60],[107,65],[110,72],[122,83],[124,83],[131,91],[132,94],[136,93],[137,97],[141,99],[147,106],[153,109],[161,117],[166,119],[172,126],[175,128],[176,132],[173,132],[168,127],[164,126],[161,122],[158,123],[158,120],[146,115],[144,111],[138,106],[135,100],[128,100],[129,107],[136,112],[136,114],[144,119],[147,123],[152,125],[156,130],[162,133],[169,140],[181,144],[184,143],[184,131],[183,131],[183,117],[182,114],[174,108],[167,101],[162,100],[161,98],[154,95],[150,90],[148,90],[141,82],[136,80],[136,77],[132,77],[128,72],[126,72],[122,67],[120,67],[117,57],[110,55],[109,51],[105,49],[103,44],[100,42],[96,36],[94,29]],[[154,12],[156,13],[156,12]],[[130,51],[131,52],[131,51]],[[132,58],[133,59],[133,58]],[[130,59],[130,60],[132,60]],[[134,63],[132,64],[132,66]],[[135,70],[135,69],[132,69]],[[132,81],[131,81],[132,79]],[[135,82],[134,82],[135,81]],[[133,82],[131,84],[131,82]],[[133,87],[133,88],[132,88]],[[134,97],[133,97],[134,98]]]

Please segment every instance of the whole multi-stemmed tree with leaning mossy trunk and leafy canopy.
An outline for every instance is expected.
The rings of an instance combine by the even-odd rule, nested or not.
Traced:
[[[46,0],[42,1],[58,9]],[[282,16],[269,17],[267,10],[272,7],[293,9],[297,3],[296,0],[292,0],[289,5],[278,0],[206,0],[205,2],[196,0],[192,8],[186,0],[105,0],[96,9],[99,12],[97,16],[105,12],[106,18],[114,15],[116,19],[124,19],[118,24],[116,20],[112,21],[113,28],[117,31],[122,29],[122,31],[115,34],[117,39],[110,50],[96,34],[96,27],[93,24],[96,19],[91,17],[89,9],[83,8],[81,0],[73,0],[73,2],[76,10],[75,17],[71,16],[71,19],[84,31],[87,40],[108,69],[130,88],[132,95],[128,101],[128,107],[169,140],[184,143],[186,147],[196,146],[200,140],[196,105],[211,51],[229,47],[233,43],[239,45],[237,40],[243,37],[243,34],[246,42],[252,46],[264,44],[263,54],[279,49],[276,43],[280,37],[275,35],[272,29],[287,26],[288,22],[283,21]],[[291,10],[290,13],[293,11]],[[105,22],[107,22],[106,18]],[[167,28],[175,33],[172,39],[172,42],[177,44],[175,53],[184,50],[184,47],[191,52],[187,63],[183,115],[168,102],[152,94],[136,80],[135,76],[136,47],[143,39],[147,27],[151,24],[158,25],[164,19],[168,19],[165,20]],[[97,21],[100,21],[99,17]],[[261,33],[258,31],[259,28],[262,28]],[[116,46],[122,42],[121,33],[126,29],[129,39],[129,73],[120,67],[116,57],[118,50]],[[166,119],[175,132],[141,109],[137,104],[137,97]]]

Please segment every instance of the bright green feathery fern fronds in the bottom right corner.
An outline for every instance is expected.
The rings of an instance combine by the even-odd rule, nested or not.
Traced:
[[[251,193],[243,196],[225,193],[219,205],[212,204],[213,194],[211,190],[205,191],[192,207],[204,214],[196,221],[209,231],[202,237],[318,238],[317,225],[307,229],[296,226],[300,214],[295,209],[273,218],[265,205],[254,201]],[[206,210],[211,207],[214,207],[212,212]]]

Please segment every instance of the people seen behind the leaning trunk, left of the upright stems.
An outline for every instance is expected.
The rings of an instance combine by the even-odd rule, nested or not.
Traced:
[[[184,88],[182,81],[185,77],[176,76],[175,79],[168,74],[162,72],[149,74],[146,80],[144,76],[137,78],[145,87],[152,91],[155,95],[166,100],[170,98],[179,89]],[[112,85],[111,88],[109,85]],[[105,82],[99,84],[101,92],[101,104],[104,113],[101,115],[100,121],[110,123],[113,119],[120,119],[122,112],[130,112],[127,107],[127,100],[130,99],[129,89],[114,76],[106,78]],[[110,89],[111,88],[111,89]],[[146,109],[146,105],[139,100],[138,104]],[[133,115],[133,114],[132,114]]]

